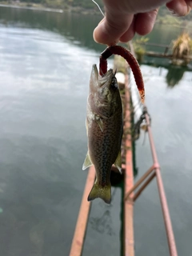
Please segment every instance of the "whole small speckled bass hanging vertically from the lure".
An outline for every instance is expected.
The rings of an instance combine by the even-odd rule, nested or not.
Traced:
[[[102,198],[110,204],[110,170],[114,164],[122,170],[122,99],[113,70],[102,76],[96,65],[90,74],[90,92],[86,106],[86,134],[88,151],[82,170],[94,165],[96,179],[87,198]]]

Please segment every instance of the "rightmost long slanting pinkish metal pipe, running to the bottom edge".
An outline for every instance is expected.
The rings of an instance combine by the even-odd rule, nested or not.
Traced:
[[[154,139],[153,139],[151,129],[150,129],[150,118],[149,118],[147,112],[146,112],[146,124],[148,126],[150,149],[151,149],[151,153],[154,158],[154,165],[156,165],[155,172],[156,172],[157,183],[158,183],[158,193],[159,193],[159,197],[160,197],[160,201],[161,201],[161,205],[162,205],[162,214],[163,214],[163,218],[164,218],[164,222],[165,222],[165,226],[166,226],[166,236],[167,236],[168,246],[169,246],[169,250],[170,250],[170,255],[178,256],[176,244],[174,241],[174,232],[173,232],[173,228],[172,228],[172,224],[171,224],[171,220],[170,220],[169,208],[168,208],[168,205],[166,202],[166,193],[165,193],[165,190],[163,187],[162,175],[161,175],[160,167],[158,165],[158,157],[157,157],[156,150],[154,147]]]

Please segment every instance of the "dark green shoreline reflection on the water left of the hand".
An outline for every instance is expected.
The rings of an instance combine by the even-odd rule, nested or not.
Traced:
[[[101,20],[99,15],[44,12],[38,10],[22,10],[0,8],[0,23],[4,26],[19,26],[50,30],[64,35],[74,45],[102,51],[104,46],[93,39],[93,30]]]

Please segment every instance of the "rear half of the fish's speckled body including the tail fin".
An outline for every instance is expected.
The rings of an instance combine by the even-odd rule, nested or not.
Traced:
[[[88,149],[96,171],[96,181],[88,200],[102,198],[110,203],[110,170],[121,149],[122,114],[103,119],[103,130],[94,120],[88,127]]]

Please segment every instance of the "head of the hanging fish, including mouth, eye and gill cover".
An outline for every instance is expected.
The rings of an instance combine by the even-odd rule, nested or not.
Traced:
[[[114,71],[108,70],[106,74],[98,74],[98,68],[93,65],[90,75],[90,94],[94,102],[94,110],[96,108],[107,108],[114,112],[121,104],[120,94],[118,90],[118,82],[115,78]]]

